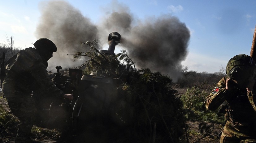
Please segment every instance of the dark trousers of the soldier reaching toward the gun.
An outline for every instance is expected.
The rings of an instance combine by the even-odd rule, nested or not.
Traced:
[[[7,95],[6,99],[12,113],[20,120],[15,143],[28,142],[35,121],[35,101],[29,95],[22,97],[8,97]]]

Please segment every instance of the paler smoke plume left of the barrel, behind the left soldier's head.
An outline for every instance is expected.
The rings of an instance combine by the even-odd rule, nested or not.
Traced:
[[[62,66],[64,69],[76,67],[85,62],[85,59],[73,62],[72,55],[67,54],[88,51],[88,47],[81,47],[81,43],[96,39],[97,27],[79,10],[64,1],[41,2],[40,9],[42,15],[37,26],[36,37],[48,38],[57,46],[57,52],[48,61],[47,70],[56,72],[55,66]]]

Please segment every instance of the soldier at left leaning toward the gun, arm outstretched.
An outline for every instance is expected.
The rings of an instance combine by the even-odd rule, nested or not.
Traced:
[[[34,95],[73,99],[72,94],[64,94],[53,85],[46,71],[47,61],[57,51],[55,44],[49,39],[40,38],[34,46],[21,50],[7,61],[7,75],[2,84],[10,109],[20,120],[15,143],[33,142],[30,131],[35,125],[37,109],[32,91]]]

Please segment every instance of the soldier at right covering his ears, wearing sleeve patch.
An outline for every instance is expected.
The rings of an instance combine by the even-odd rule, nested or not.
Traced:
[[[220,143],[256,143],[256,112],[249,100],[256,91],[255,62],[248,55],[236,55],[229,60],[226,74],[204,101],[209,110],[228,103]]]

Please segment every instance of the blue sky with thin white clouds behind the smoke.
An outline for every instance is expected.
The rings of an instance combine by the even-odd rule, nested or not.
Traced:
[[[54,2],[61,3],[61,1]],[[80,11],[84,18],[88,18],[89,22],[96,26],[101,24],[102,18],[107,14],[118,9],[125,9],[137,24],[146,23],[150,18],[158,19],[163,15],[178,18],[178,23],[184,24],[190,34],[187,52],[178,62],[188,66],[189,70],[197,72],[218,72],[221,66],[226,67],[228,60],[234,55],[249,55],[256,24],[255,0],[68,0],[65,2],[76,11]],[[22,49],[33,47],[31,43],[42,38],[36,33],[38,27],[43,26],[44,21],[41,20],[42,15],[45,14],[43,5],[47,3],[49,1],[1,0],[0,43],[5,43],[8,36],[9,39],[14,38],[15,47]],[[136,26],[138,25],[134,24],[134,27]],[[158,25],[153,24],[154,26]],[[46,31],[49,30],[47,26],[44,28]],[[121,34],[121,37],[128,36],[118,28],[115,30]],[[119,48],[122,48],[121,46],[120,44]],[[102,45],[102,48],[107,50],[106,45],[105,47]]]

